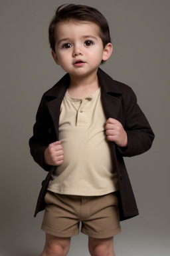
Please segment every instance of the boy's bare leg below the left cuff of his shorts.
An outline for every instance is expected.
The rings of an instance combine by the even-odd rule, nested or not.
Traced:
[[[44,250],[41,256],[66,256],[70,249],[70,237],[55,237],[46,234]]]

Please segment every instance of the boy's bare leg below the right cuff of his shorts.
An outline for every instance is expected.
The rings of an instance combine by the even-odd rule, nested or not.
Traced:
[[[89,237],[88,249],[92,256],[115,256],[114,253],[114,237],[106,239],[96,239]]]

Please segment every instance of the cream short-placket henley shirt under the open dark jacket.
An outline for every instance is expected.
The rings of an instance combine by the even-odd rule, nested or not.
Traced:
[[[56,167],[48,190],[68,195],[105,195],[119,189],[105,133],[101,91],[84,99],[64,95],[59,137],[64,163]]]

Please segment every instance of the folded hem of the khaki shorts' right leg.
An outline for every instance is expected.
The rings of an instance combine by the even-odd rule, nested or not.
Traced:
[[[100,232],[100,233],[89,231],[87,229],[81,229],[81,232],[84,233],[85,235],[88,235],[89,237],[93,237],[93,238],[99,238],[99,239],[114,237],[114,235],[118,235],[118,233],[120,233],[121,231],[122,230],[120,226],[108,232]]]

